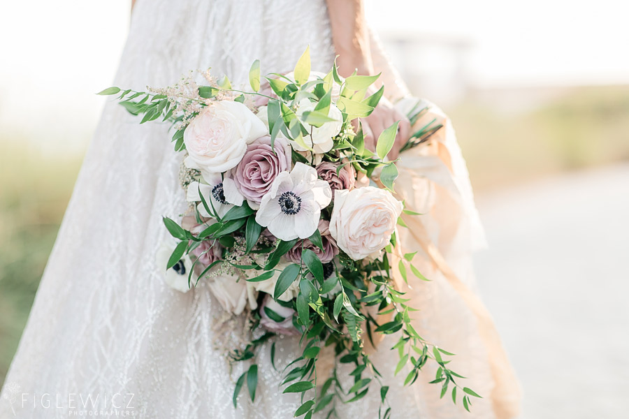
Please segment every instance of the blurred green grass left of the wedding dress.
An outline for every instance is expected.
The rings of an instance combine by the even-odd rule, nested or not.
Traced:
[[[26,141],[0,140],[0,147],[1,385],[57,237],[80,156],[43,156]]]

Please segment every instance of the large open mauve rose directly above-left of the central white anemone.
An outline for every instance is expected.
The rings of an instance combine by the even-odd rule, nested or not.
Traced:
[[[260,207],[275,177],[291,170],[291,146],[287,140],[275,138],[274,148],[275,152],[268,135],[258,138],[247,146],[243,160],[232,172],[238,190],[254,210]]]

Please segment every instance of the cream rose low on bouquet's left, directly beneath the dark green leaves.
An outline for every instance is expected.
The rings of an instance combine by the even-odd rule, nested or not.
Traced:
[[[238,316],[247,307],[247,302],[251,309],[258,307],[256,293],[245,279],[239,279],[235,275],[219,274],[212,278],[209,285],[221,307],[231,314]]]

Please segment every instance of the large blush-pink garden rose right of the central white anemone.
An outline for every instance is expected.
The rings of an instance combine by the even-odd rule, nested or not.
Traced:
[[[366,258],[389,243],[402,208],[389,191],[373,186],[335,191],[330,233],[350,258]]]

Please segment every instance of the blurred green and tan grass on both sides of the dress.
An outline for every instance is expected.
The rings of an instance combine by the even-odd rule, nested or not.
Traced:
[[[477,189],[629,159],[629,87],[574,89],[519,114],[469,101],[449,114]],[[0,385],[80,166],[20,140],[0,139]]]

